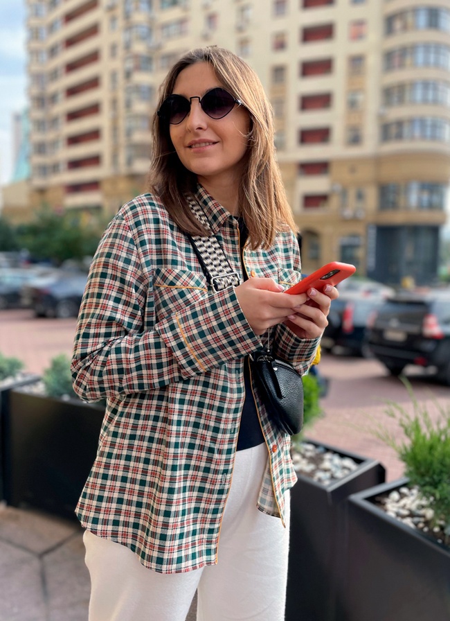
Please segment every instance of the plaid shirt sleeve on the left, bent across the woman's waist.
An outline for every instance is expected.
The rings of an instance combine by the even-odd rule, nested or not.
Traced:
[[[161,388],[258,346],[233,289],[205,292],[144,329],[151,279],[127,223],[116,217],[93,259],[78,315],[71,370],[81,399]]]

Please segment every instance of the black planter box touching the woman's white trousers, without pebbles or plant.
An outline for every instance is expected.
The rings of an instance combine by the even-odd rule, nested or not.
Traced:
[[[351,457],[359,466],[326,487],[298,474],[298,482],[291,489],[285,621],[344,621],[341,602],[348,496],[384,482],[385,470],[377,460],[329,444],[305,441]]]

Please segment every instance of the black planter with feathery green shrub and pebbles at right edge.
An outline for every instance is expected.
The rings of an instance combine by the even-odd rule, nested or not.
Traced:
[[[348,502],[346,621],[447,621],[450,618],[450,411],[438,417],[413,401],[390,402],[404,430],[378,437],[404,461],[406,478],[354,494]]]

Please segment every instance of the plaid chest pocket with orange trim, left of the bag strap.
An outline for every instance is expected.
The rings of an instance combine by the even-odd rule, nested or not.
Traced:
[[[208,292],[206,277],[201,272],[165,268],[154,274],[154,310],[161,319],[183,310]]]

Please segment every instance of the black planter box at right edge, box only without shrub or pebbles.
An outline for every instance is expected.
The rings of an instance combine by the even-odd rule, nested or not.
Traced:
[[[450,619],[450,549],[370,502],[407,484],[397,480],[349,499],[347,621]]]

